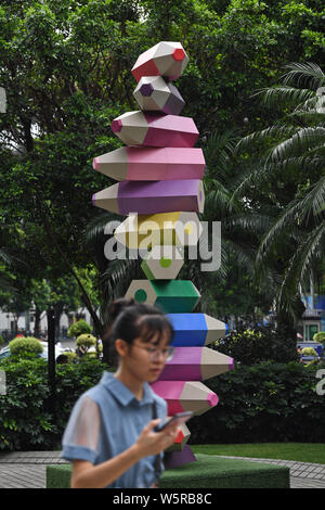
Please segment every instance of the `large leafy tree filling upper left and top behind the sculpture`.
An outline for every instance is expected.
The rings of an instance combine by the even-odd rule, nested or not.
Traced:
[[[310,59],[321,54],[322,7],[309,3],[1,3],[0,85],[8,107],[0,116],[0,217],[5,248],[23,241],[24,259],[37,279],[70,275],[99,334],[119,280],[102,285],[102,275],[113,275],[117,264],[99,265],[83,243],[89,222],[101,216],[91,195],[110,183],[92,170],[91,162],[120,145],[108,129],[112,119],[138,109],[130,73],[136,58],[158,39],[180,40],[191,60],[176,85],[186,101],[183,115],[194,117],[202,137],[225,127],[259,128],[265,109],[252,103],[252,90],[276,79],[283,59],[288,62],[304,51]],[[90,260],[98,270],[101,311],[79,278]]]

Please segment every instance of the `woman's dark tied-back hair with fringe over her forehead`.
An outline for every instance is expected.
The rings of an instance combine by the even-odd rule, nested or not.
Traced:
[[[143,303],[136,303],[133,298],[121,297],[114,301],[108,308],[113,324],[103,336],[103,360],[108,365],[116,364],[117,353],[115,341],[122,339],[129,345],[139,336],[144,342],[155,339],[159,342],[162,335],[171,342],[173,328],[159,309]]]

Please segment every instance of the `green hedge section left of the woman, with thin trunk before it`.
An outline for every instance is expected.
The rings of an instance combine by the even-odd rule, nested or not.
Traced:
[[[48,364],[44,359],[6,358],[6,394],[0,395],[0,450],[51,450],[61,439],[72,408],[95,385],[105,366],[100,361],[56,366],[56,407],[49,409]]]

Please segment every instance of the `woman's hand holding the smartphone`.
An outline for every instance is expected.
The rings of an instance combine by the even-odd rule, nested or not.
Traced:
[[[152,420],[140,434],[134,446],[139,449],[141,457],[158,455],[171,446],[179,434],[179,426],[166,426],[161,432],[155,432],[154,429],[160,423],[160,418]]]

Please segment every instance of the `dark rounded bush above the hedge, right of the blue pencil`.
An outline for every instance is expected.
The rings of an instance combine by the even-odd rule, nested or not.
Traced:
[[[296,337],[287,336],[281,327],[238,329],[214,342],[213,348],[232,356],[236,364],[253,366],[262,361],[297,360]]]

